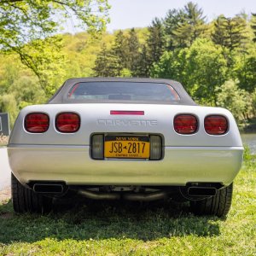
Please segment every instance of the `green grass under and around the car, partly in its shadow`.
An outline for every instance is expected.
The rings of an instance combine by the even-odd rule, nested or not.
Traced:
[[[59,203],[48,216],[0,205],[0,255],[86,254],[256,255],[256,163],[236,177],[225,220],[195,217],[175,203]]]

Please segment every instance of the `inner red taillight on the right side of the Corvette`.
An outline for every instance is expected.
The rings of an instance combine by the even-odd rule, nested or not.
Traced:
[[[173,121],[174,130],[180,134],[192,134],[197,130],[197,119],[192,114],[179,114]]]

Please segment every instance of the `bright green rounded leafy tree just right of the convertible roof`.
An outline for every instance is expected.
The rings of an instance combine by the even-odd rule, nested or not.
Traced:
[[[216,88],[227,79],[227,61],[222,49],[206,38],[198,38],[184,50],[187,51],[186,83],[192,87],[195,100],[216,106]]]

